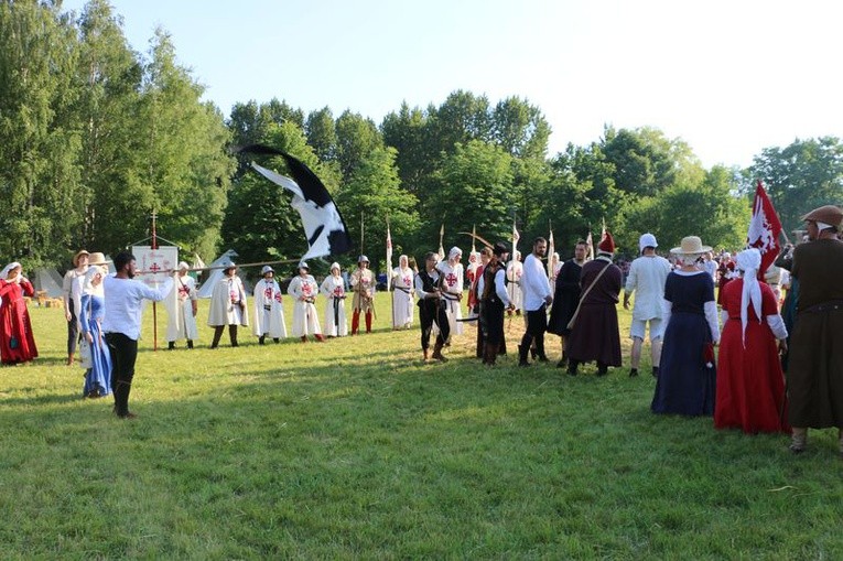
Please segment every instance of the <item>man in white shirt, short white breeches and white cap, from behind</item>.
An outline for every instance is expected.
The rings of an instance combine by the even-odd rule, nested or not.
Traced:
[[[629,376],[638,376],[638,365],[641,362],[641,347],[650,324],[650,353],[652,356],[652,375],[659,374],[661,358],[661,337],[664,325],[661,323],[661,301],[664,298],[664,281],[670,273],[670,261],[656,255],[656,236],[645,234],[638,240],[641,256],[633,261],[624,289],[624,309],[629,310],[629,296],[635,292],[635,308],[629,336],[633,338],[633,360]]]

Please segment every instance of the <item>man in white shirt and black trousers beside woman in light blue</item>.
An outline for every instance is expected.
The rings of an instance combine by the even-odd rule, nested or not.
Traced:
[[[173,289],[173,279],[167,278],[158,289],[132,280],[136,273],[134,256],[121,251],[115,257],[117,273],[102,280],[106,301],[106,316],[102,332],[111,354],[111,388],[115,392],[115,413],[121,419],[137,417],[129,411],[129,392],[134,377],[134,362],[138,358],[138,339],[141,328],[141,305],[143,300],[160,302]]]

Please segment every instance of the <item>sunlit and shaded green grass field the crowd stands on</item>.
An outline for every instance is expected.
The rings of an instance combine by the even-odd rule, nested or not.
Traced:
[[[651,414],[649,364],[482,367],[473,327],[425,365],[377,304],[370,335],[215,350],[207,302],[193,350],[152,352],[148,311],[128,421],[31,308],[41,357],[0,369],[0,557],[843,559],[836,431],[792,456]]]

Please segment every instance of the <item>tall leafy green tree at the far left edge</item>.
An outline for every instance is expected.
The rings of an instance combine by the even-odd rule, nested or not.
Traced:
[[[61,262],[80,230],[75,30],[56,4],[0,2],[0,255]]]

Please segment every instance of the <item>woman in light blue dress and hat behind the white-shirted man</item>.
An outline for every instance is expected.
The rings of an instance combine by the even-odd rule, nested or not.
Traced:
[[[106,273],[105,267],[90,263],[82,290],[79,326],[90,349],[90,359],[85,364],[88,369],[85,373],[83,396],[86,398],[101,398],[111,393],[111,355],[101,327],[106,314],[102,294],[102,277]]]

